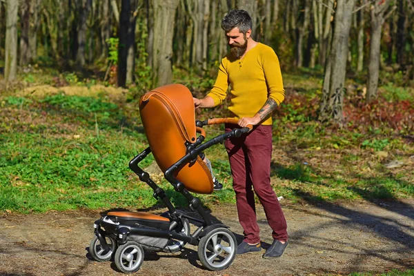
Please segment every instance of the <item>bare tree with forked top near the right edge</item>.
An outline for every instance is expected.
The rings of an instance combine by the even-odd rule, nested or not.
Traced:
[[[380,73],[380,46],[382,25],[391,12],[397,8],[393,6],[387,14],[391,0],[375,0],[371,8],[371,39],[368,65],[368,86],[366,89],[366,101],[372,101],[377,97],[378,75]],[[385,15],[384,15],[385,14]]]

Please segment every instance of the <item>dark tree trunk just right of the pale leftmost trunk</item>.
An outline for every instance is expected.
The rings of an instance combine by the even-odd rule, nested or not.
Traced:
[[[25,66],[30,62],[29,48],[29,28],[30,28],[30,6],[31,0],[21,1],[21,34],[20,34],[20,66]]]

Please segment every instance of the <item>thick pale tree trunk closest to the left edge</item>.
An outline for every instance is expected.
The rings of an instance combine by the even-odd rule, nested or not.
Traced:
[[[4,66],[4,79],[13,81],[17,73],[17,14],[19,2],[7,1],[6,11],[6,61]]]

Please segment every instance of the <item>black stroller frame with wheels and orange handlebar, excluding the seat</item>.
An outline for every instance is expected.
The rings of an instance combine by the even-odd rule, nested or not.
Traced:
[[[235,128],[202,144],[206,138],[206,132],[202,127],[223,123],[237,124],[237,120],[209,119],[206,121],[195,121],[197,132],[201,132],[201,135],[197,137],[193,144],[186,143],[186,155],[164,172],[165,179],[172,184],[175,191],[184,195],[188,200],[190,208],[197,210],[202,219],[177,211],[164,189],[159,187],[150,178],[148,172],[138,166],[150,154],[151,149],[148,147],[130,161],[129,167],[141,181],[146,182],[154,190],[153,196],[155,199],[164,202],[168,208],[166,217],[148,215],[149,219],[147,219],[146,214],[149,213],[137,214],[136,212],[121,212],[121,214],[110,212],[103,215],[94,223],[95,237],[90,242],[89,247],[89,252],[93,259],[98,262],[105,262],[112,259],[112,255],[115,252],[114,258],[117,268],[124,273],[134,273],[139,270],[144,262],[144,249],[142,246],[147,248],[147,246],[140,242],[136,242],[134,237],[144,236],[152,237],[153,239],[167,239],[168,242],[172,242],[171,245],[158,248],[164,252],[177,252],[184,248],[186,244],[198,246],[199,260],[209,270],[223,270],[233,263],[237,250],[237,241],[234,234],[224,224],[213,224],[210,215],[202,207],[201,201],[194,197],[188,191],[185,184],[175,177],[175,173],[178,170],[191,164],[197,157],[204,158],[203,150],[206,150],[206,148],[223,143],[224,140],[231,137],[240,137],[252,129],[252,126]],[[192,234],[190,233],[188,220],[201,224]]]

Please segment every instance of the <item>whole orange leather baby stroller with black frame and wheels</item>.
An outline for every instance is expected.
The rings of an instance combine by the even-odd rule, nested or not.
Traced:
[[[209,270],[228,268],[236,256],[235,235],[228,226],[213,224],[201,201],[191,193],[213,192],[213,178],[203,161],[203,150],[230,137],[239,137],[251,130],[251,126],[235,128],[202,144],[206,138],[203,126],[237,124],[237,119],[196,121],[193,96],[180,84],[147,92],[139,101],[139,112],[149,147],[132,159],[129,167],[154,190],[154,197],[163,201],[168,211],[162,215],[129,211],[103,215],[94,224],[90,255],[98,262],[109,261],[113,256],[119,270],[134,273],[144,262],[144,248],[174,253],[192,244],[197,246],[203,266]],[[190,208],[197,210],[201,219],[176,210],[164,190],[138,166],[150,152],[166,180],[186,197]],[[201,225],[190,233],[189,221]]]

